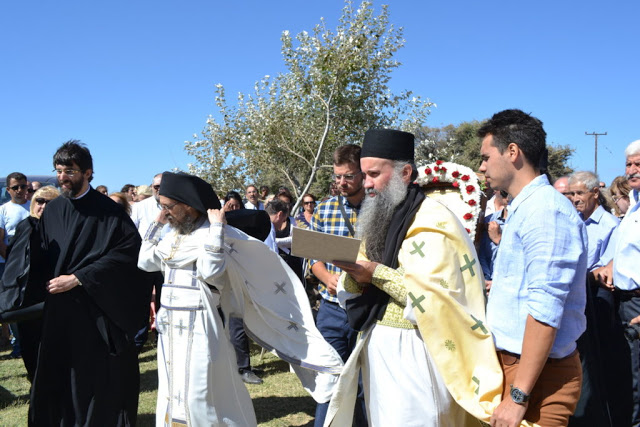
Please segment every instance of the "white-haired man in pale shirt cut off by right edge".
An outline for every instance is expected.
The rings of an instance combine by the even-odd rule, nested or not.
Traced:
[[[627,326],[627,338],[631,353],[633,413],[632,425],[640,425],[640,204],[635,202],[640,194],[640,140],[633,141],[625,150],[627,157],[625,174],[632,191],[629,200],[633,204],[615,231],[609,244],[613,260],[594,271],[594,275],[609,289],[619,303],[618,313]]]

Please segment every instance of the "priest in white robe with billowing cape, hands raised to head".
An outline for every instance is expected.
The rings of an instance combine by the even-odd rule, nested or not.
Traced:
[[[328,400],[342,362],[315,329],[304,288],[277,254],[238,229],[264,239],[266,213],[225,216],[211,186],[183,173],[162,175],[159,198],[138,260],[165,276],[156,424],[256,425],[221,313],[242,316],[248,334],[290,362],[314,398]],[[172,231],[159,240],[167,222]]]

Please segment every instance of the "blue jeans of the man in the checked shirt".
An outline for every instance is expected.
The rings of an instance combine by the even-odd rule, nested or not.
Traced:
[[[347,312],[337,303],[329,302],[323,298],[318,309],[316,327],[324,339],[336,349],[340,357],[342,357],[342,361],[346,362],[358,338],[358,331],[349,325]],[[316,406],[315,427],[320,427],[324,424],[327,409],[329,409],[329,402],[318,403],[318,406]],[[362,391],[362,377],[358,380],[358,398],[356,400],[354,424],[358,427],[368,425],[364,392]]]

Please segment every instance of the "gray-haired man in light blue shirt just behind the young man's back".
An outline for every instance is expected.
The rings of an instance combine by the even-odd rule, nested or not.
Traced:
[[[569,177],[568,192],[587,227],[587,271],[593,271],[607,263],[604,261],[605,250],[611,235],[620,223],[618,218],[602,206],[604,196],[599,184],[598,176],[592,172],[575,172]],[[587,330],[578,339],[583,370],[582,391],[575,414],[569,422],[570,426],[612,425],[609,402],[614,390],[606,392],[605,383],[609,378],[618,378],[613,375],[613,369],[605,367],[616,356],[615,351],[612,352],[612,337],[619,332],[619,328],[612,324],[614,304],[610,291],[595,282],[587,284]],[[616,403],[611,402],[612,405]]]

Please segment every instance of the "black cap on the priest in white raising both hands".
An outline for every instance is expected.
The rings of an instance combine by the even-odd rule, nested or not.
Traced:
[[[184,172],[164,172],[158,194],[189,205],[205,215],[207,209],[220,209],[220,200],[211,184]]]

